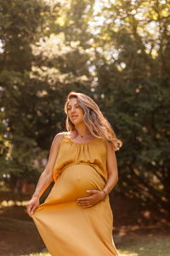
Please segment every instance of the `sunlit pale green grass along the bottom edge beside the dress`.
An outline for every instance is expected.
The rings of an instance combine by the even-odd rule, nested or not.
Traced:
[[[156,241],[141,239],[117,247],[120,256],[170,256],[170,241],[160,238]],[[23,256],[50,256],[49,253],[31,253]]]

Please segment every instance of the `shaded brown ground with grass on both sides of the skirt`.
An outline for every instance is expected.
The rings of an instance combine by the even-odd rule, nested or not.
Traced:
[[[45,246],[26,214],[28,197],[24,199],[20,202],[10,193],[0,193],[0,255],[48,255],[41,253]],[[141,211],[137,202],[121,195],[111,195],[110,200],[113,237],[121,255],[170,256],[170,223],[163,215]]]

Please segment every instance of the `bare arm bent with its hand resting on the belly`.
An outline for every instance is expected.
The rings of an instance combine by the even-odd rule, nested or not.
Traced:
[[[107,170],[108,170],[108,179],[105,183],[105,187],[102,191],[100,190],[87,190],[89,195],[87,197],[78,198],[77,204],[84,208],[93,207],[95,204],[102,201],[106,195],[108,195],[111,190],[115,187],[118,181],[118,171],[116,163],[116,154],[111,148],[110,143],[106,143],[106,155],[107,155]]]

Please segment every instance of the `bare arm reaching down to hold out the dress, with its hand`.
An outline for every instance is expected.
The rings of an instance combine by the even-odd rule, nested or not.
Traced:
[[[62,138],[62,133],[58,133],[51,144],[51,148],[49,151],[48,156],[48,164],[45,167],[44,171],[42,172],[41,176],[39,177],[36,190],[31,197],[31,201],[26,205],[26,210],[28,215],[31,214],[36,210],[39,205],[39,198],[44,192],[45,189],[48,188],[48,185],[53,180],[53,172],[54,172],[54,163],[59,153],[59,144]]]

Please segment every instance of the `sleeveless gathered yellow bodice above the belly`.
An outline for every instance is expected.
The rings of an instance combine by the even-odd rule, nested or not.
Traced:
[[[93,166],[106,182],[108,171],[105,142],[103,139],[96,137],[88,143],[75,143],[71,141],[67,132],[63,132],[59,153],[54,164],[54,182],[57,181],[57,178],[67,166],[79,164]]]

